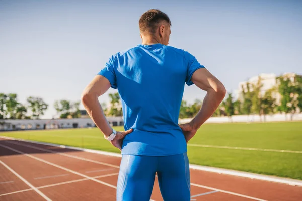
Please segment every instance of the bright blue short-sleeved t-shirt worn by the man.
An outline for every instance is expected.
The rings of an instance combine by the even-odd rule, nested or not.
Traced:
[[[190,53],[162,44],[137,45],[113,55],[98,73],[121,98],[124,128],[122,154],[166,156],[187,151],[178,126],[185,83],[204,68]]]

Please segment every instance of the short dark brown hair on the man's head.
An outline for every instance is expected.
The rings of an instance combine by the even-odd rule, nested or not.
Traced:
[[[166,21],[171,26],[171,21],[167,14],[157,9],[150,9],[139,18],[139,30],[141,32],[147,31],[149,33],[154,33],[156,25],[162,20]]]

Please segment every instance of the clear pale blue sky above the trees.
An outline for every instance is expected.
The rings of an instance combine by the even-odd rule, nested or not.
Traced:
[[[52,118],[56,100],[79,101],[111,55],[141,43],[138,19],[149,9],[170,17],[169,46],[193,54],[228,92],[260,73],[302,74],[302,1],[2,0],[0,93],[22,104],[42,97],[42,118]],[[205,94],[185,86],[183,99]]]

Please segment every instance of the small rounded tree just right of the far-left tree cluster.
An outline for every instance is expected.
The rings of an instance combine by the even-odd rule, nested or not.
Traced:
[[[40,115],[44,115],[44,112],[48,108],[48,104],[44,102],[44,100],[40,97],[28,97],[27,103],[29,104],[29,108],[32,111],[32,119],[39,119]]]

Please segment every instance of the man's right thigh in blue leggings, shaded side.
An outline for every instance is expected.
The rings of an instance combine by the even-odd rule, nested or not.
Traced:
[[[187,153],[161,157],[158,178],[165,201],[190,200],[190,169]]]

